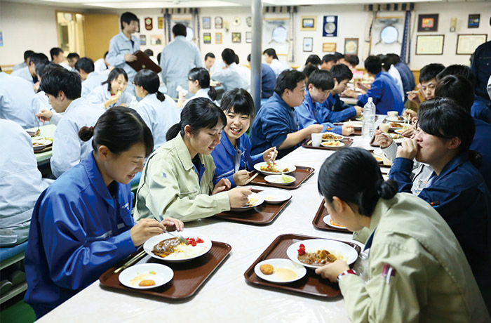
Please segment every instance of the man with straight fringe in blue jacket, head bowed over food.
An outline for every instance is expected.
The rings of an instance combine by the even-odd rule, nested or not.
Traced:
[[[328,98],[330,90],[334,87],[334,79],[330,72],[318,70],[312,72],[309,76],[307,89],[305,90],[305,98],[302,105],[295,107],[300,129],[307,128],[312,124],[321,124],[323,131],[333,131],[344,136],[349,136],[353,133],[353,128],[349,126],[335,126],[328,122],[330,117],[326,107],[321,107],[321,104]],[[324,112],[321,112],[324,110]],[[339,114],[339,112],[334,112]]]

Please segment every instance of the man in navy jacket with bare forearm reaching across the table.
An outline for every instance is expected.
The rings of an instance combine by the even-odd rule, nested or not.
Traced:
[[[312,133],[320,133],[321,124],[311,124],[299,130],[295,110],[305,95],[305,74],[297,70],[285,70],[278,75],[274,94],[261,107],[251,131],[253,150],[260,154],[271,147],[278,147],[278,158],[297,148]]]

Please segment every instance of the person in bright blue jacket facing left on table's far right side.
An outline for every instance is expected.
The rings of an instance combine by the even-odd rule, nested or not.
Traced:
[[[402,114],[404,109],[401,92],[397,88],[396,81],[389,73],[382,72],[382,61],[377,56],[368,56],[365,60],[365,69],[371,77],[375,77],[372,86],[365,94],[358,95],[355,91],[346,91],[347,95],[358,99],[357,105],[363,106],[368,98],[373,98],[377,107],[377,114],[387,114],[388,111],[397,111]]]

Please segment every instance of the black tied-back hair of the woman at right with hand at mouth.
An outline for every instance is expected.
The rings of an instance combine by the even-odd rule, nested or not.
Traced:
[[[471,114],[450,98],[424,101],[418,110],[418,126],[425,133],[443,139],[460,139],[459,153],[469,152],[469,161],[479,168],[482,157],[471,147],[476,124]]]

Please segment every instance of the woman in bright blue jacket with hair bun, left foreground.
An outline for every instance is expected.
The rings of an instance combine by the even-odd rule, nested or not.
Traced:
[[[45,190],[34,206],[25,253],[25,302],[42,317],[92,284],[138,246],[182,222],[131,216],[130,180],[152,148],[152,133],[128,107],[113,107],[79,131],[93,151]]]

